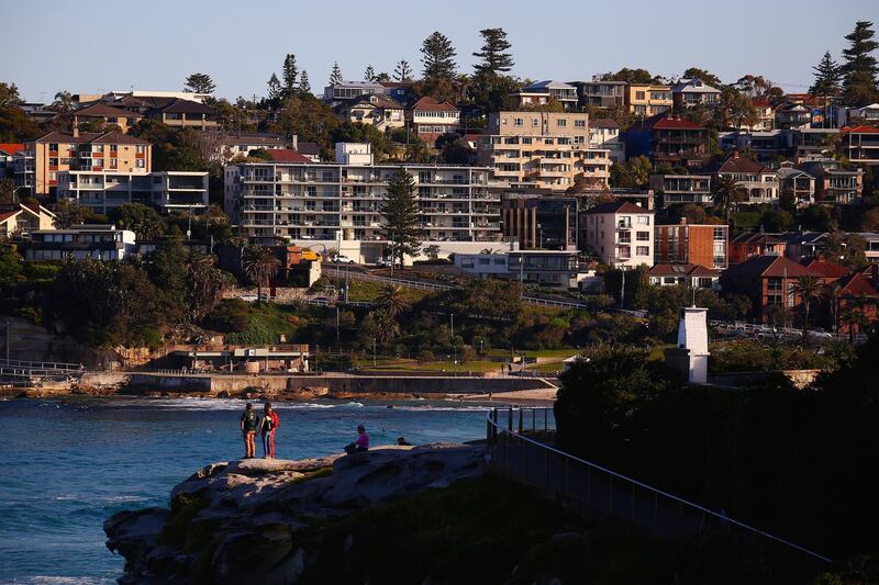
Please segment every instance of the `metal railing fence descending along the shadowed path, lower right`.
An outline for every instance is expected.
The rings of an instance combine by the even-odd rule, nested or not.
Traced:
[[[550,408],[493,408],[486,423],[489,464],[518,483],[558,497],[587,519],[663,538],[725,535],[793,562],[827,556],[537,440],[555,428]],[[528,434],[532,436],[530,437]]]

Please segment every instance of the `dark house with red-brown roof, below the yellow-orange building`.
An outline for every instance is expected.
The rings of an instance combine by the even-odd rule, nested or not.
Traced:
[[[623,134],[626,156],[654,162],[701,167],[709,158],[708,128],[680,116],[659,114],[633,124]]]

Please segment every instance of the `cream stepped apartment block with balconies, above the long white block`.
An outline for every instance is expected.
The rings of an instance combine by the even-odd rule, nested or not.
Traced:
[[[493,112],[477,160],[509,183],[566,190],[578,178],[608,184],[610,151],[589,148],[589,114]]]

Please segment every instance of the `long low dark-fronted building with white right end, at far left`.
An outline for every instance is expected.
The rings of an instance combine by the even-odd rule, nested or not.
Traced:
[[[134,232],[112,225],[77,225],[67,229],[36,229],[21,245],[26,261],[123,260],[135,249]]]

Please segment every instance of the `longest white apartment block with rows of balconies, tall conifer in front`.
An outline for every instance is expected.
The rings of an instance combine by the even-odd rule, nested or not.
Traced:
[[[425,241],[501,239],[500,194],[488,168],[376,165],[368,144],[336,145],[336,161],[242,162],[225,167],[225,209],[260,240],[385,243],[381,205],[400,169],[416,184]]]

